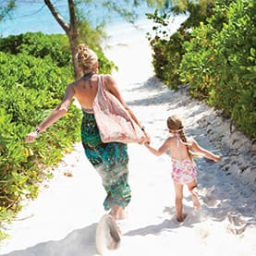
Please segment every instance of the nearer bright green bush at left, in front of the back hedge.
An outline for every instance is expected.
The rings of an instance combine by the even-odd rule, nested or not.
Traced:
[[[2,74],[6,77],[0,83],[0,167],[1,180],[6,182],[0,189],[0,194],[6,198],[1,200],[1,206],[16,210],[22,195],[37,195],[35,185],[43,178],[39,165],[54,165],[61,159],[65,147],[79,140],[77,121],[70,122],[70,118],[79,120],[80,111],[72,107],[67,116],[49,129],[43,140],[25,144],[25,134],[59,103],[69,78],[66,68],[56,67],[48,59],[0,53],[0,60],[1,72],[6,66],[19,67],[15,76]],[[52,71],[46,76],[45,70],[49,69]]]

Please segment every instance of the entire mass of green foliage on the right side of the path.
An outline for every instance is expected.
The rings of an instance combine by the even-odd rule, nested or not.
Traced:
[[[223,110],[256,138],[255,2],[219,0],[209,13],[198,26],[189,28],[187,20],[168,38],[150,38],[154,69],[171,88],[189,84],[193,97]]]

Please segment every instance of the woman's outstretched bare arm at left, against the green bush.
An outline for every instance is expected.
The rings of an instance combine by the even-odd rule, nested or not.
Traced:
[[[53,125],[59,118],[64,116],[67,113],[68,107],[71,104],[71,100],[74,97],[75,93],[72,88],[73,84],[69,84],[67,86],[67,89],[65,91],[64,98],[59,104],[55,110],[48,116],[43,123],[41,123],[38,128],[35,128],[35,130],[31,131],[26,135],[25,141],[27,143],[31,143],[39,136],[39,134],[44,131],[46,128],[49,128],[51,125]]]

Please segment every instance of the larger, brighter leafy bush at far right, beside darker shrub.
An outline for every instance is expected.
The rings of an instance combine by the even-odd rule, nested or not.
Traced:
[[[213,18],[193,30],[184,44],[187,52],[180,66],[180,79],[189,82],[191,94],[222,109],[251,138],[256,137],[255,13],[252,0],[229,6],[219,1]],[[222,26],[218,18],[225,21]]]

